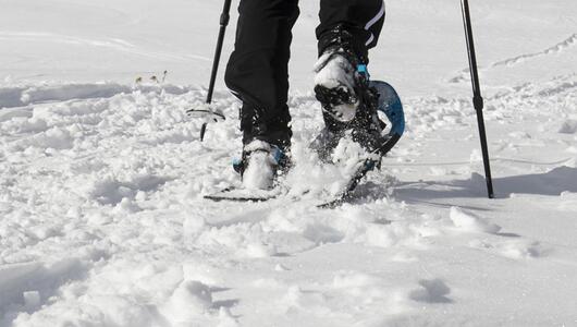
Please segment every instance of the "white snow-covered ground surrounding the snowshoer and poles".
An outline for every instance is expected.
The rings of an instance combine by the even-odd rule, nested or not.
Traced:
[[[388,1],[370,68],[407,133],[334,209],[202,198],[238,183],[236,100],[219,82],[204,143],[184,113],[219,1],[93,2],[0,0],[0,326],[577,326],[577,2],[471,3],[487,199],[459,3]],[[330,169],[306,146],[317,2],[294,29],[295,189]]]

